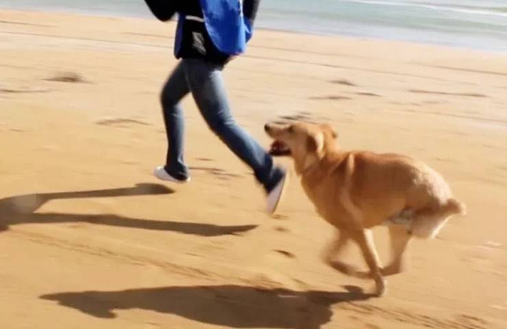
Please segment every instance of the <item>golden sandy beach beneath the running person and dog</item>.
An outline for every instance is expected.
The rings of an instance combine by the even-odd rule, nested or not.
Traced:
[[[333,230],[297,179],[265,215],[190,97],[193,181],[151,176],[174,28],[0,11],[0,328],[507,328],[507,56],[260,30],[225,69],[264,145],[267,121],[328,122],[345,149],[428,162],[467,204],[366,299],[370,282],[321,261]]]

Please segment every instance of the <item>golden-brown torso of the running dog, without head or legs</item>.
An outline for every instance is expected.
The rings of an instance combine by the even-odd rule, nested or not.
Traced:
[[[336,226],[343,226],[343,217],[348,217],[351,211],[360,212],[364,228],[378,226],[406,209],[415,214],[432,213],[441,217],[464,212],[442,176],[408,156],[351,151],[326,157],[328,160],[322,161],[303,181],[319,213],[323,217],[336,217],[335,220],[327,218]],[[319,184],[312,182],[315,179],[319,179]],[[356,210],[351,210],[354,207]],[[416,226],[429,222],[421,219],[416,221]]]

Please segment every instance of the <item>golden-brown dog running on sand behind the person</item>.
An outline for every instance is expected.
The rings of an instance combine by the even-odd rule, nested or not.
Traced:
[[[301,185],[325,221],[338,232],[324,260],[349,276],[375,280],[373,295],[386,293],[385,276],[404,271],[410,239],[434,238],[449,217],[465,215],[443,177],[427,164],[401,154],[343,151],[330,125],[297,122],[265,125],[274,140],[270,154],[290,156]],[[382,267],[371,228],[388,226],[392,260]],[[369,271],[339,260],[355,241]]]

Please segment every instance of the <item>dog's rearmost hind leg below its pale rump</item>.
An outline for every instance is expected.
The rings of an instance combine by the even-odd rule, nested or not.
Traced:
[[[405,254],[408,242],[412,238],[412,234],[408,233],[403,226],[389,226],[389,234],[391,236],[391,264],[382,269],[383,276],[393,276],[401,273],[406,269]]]

